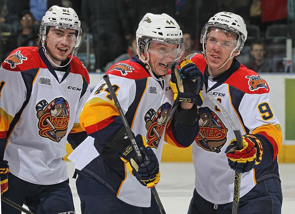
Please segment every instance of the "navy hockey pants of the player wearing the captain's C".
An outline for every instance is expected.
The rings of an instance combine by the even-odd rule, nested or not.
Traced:
[[[240,198],[239,214],[281,214],[283,202],[281,182],[269,178],[259,182],[250,192]],[[232,213],[232,202],[214,204],[202,198],[194,190],[188,214],[229,214]]]

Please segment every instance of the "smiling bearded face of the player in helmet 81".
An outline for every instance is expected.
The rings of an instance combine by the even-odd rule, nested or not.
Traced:
[[[62,61],[65,61],[73,50],[73,44],[76,40],[75,33],[76,31],[73,29],[60,27],[51,27],[49,29],[45,48],[49,57],[57,65],[60,65]]]

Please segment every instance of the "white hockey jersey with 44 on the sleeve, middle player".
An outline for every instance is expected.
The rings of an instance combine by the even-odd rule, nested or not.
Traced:
[[[173,111],[174,103],[169,86],[170,72],[166,79],[156,81],[145,65],[137,57],[133,57],[115,64],[107,74],[132,132],[145,137],[160,163],[164,135],[168,141],[178,145],[168,117]],[[104,80],[96,86],[86,102],[80,122],[87,134],[95,138],[94,146],[99,152],[99,156],[82,169],[81,173],[89,173],[88,176],[95,174],[97,180],[128,204],[150,207],[150,189],[142,186],[129,173],[118,155],[119,151],[104,143],[123,124]],[[178,133],[182,135],[185,131],[178,128]],[[186,130],[189,132],[187,135],[195,138],[194,131],[190,128]]]

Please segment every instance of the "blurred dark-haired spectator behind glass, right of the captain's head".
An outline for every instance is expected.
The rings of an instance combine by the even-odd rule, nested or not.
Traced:
[[[257,40],[251,44],[250,55],[252,60],[246,66],[249,69],[261,72],[276,72],[275,65],[272,59],[266,58],[265,43]]]

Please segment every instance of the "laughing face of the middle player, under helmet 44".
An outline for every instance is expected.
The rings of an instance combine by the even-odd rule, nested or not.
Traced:
[[[165,75],[169,66],[174,62],[178,53],[177,45],[152,42],[148,48],[149,64],[152,71],[158,75]]]

